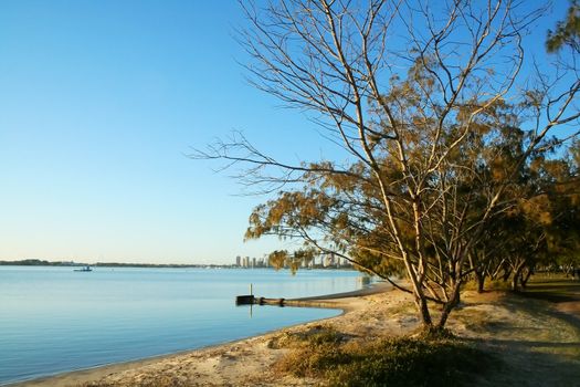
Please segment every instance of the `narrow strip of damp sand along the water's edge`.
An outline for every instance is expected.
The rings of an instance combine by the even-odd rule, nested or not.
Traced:
[[[75,385],[80,385],[84,383],[95,381],[108,375],[118,374],[118,373],[131,370],[131,369],[139,368],[139,367],[151,366],[151,365],[155,365],[161,362],[171,362],[182,356],[204,355],[204,353],[209,353],[209,352],[225,351],[229,346],[241,344],[246,341],[255,341],[255,339],[261,339],[261,338],[264,339],[267,336],[274,335],[285,330],[299,328],[303,326],[307,326],[309,324],[316,324],[316,323],[321,323],[327,320],[338,318],[345,315],[346,313],[352,312],[360,307],[360,305],[357,305],[357,302],[356,302],[357,299],[368,296],[368,295],[384,293],[390,290],[392,290],[392,285],[390,285],[388,282],[377,282],[377,283],[371,284],[370,286],[367,286],[360,290],[356,290],[356,291],[350,291],[350,292],[331,293],[331,294],[298,297],[298,299],[288,299],[287,301],[292,301],[293,304],[284,306],[284,307],[335,308],[335,310],[340,310],[341,313],[333,317],[319,318],[319,320],[314,320],[314,321],[309,321],[306,323],[288,325],[288,326],[284,326],[277,330],[267,331],[259,335],[249,336],[249,337],[234,339],[230,342],[222,342],[219,344],[213,344],[213,345],[203,346],[199,348],[180,351],[176,353],[161,354],[161,355],[156,355],[152,357],[133,359],[133,360],[127,360],[127,362],[104,364],[104,365],[98,365],[98,366],[94,366],[91,368],[68,370],[64,373],[41,376],[38,378],[28,379],[28,380],[9,381],[8,384],[0,385],[0,386],[6,386],[6,387],[75,386]],[[259,307],[259,306],[255,306],[255,307]],[[268,307],[268,306],[264,305],[262,307]]]

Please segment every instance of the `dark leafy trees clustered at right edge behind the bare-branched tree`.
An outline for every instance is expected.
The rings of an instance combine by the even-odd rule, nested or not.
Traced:
[[[521,168],[513,206],[486,227],[471,260],[479,290],[486,276],[525,287],[536,268],[571,274],[580,243],[580,187],[572,144],[567,153],[531,158]],[[558,156],[558,157],[555,157]]]

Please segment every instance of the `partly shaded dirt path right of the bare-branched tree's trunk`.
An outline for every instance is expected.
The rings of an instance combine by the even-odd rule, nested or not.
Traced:
[[[520,295],[467,294],[456,331],[503,360],[477,386],[580,386],[579,305],[580,284],[553,281]]]

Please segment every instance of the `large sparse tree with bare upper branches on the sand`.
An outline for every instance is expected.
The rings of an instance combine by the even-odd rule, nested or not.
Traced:
[[[555,145],[553,127],[580,115],[578,79],[562,88],[562,77],[541,76],[518,93],[523,35],[542,10],[500,0],[241,4],[253,84],[315,114],[347,161],[287,165],[244,137],[194,157],[245,163],[246,182],[280,190],[254,210],[246,238],[304,241],[292,260],[316,249],[384,278],[403,272],[423,327],[443,328],[470,252],[512,206],[515,176]],[[521,146],[510,154],[513,139]],[[441,305],[436,321],[429,301]]]

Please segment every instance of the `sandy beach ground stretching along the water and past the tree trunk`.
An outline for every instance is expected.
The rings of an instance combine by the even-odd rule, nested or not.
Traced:
[[[277,348],[272,345],[273,341],[281,335],[308,334],[321,327],[334,328],[349,339],[361,341],[412,334],[419,327],[411,296],[387,284],[362,293],[314,297],[304,302],[345,312],[337,317],[234,343],[12,386],[316,386],[320,385],[320,380],[276,373],[273,365],[288,349]],[[524,384],[526,386],[541,386],[545,383],[566,385],[560,383],[578,380],[580,318],[577,314],[578,301],[574,302],[558,308],[545,301],[526,300],[525,303],[521,297],[505,292],[466,292],[463,305],[453,314],[449,328],[461,337],[482,342],[479,345],[506,358],[506,367],[513,367],[510,372],[475,380],[475,385],[518,383],[521,381],[519,378],[523,372],[528,381]],[[526,306],[530,303],[534,304],[531,310]],[[529,334],[530,330],[532,335]],[[562,358],[568,363],[562,365]],[[548,373],[550,367],[561,372]],[[534,377],[535,374],[538,375]]]

